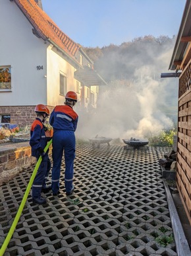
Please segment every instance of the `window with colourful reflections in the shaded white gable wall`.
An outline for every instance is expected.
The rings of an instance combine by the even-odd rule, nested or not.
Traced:
[[[11,90],[11,65],[0,65],[0,90]]]

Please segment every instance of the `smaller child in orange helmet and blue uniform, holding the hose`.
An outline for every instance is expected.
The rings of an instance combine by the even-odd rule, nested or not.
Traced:
[[[32,156],[38,158],[42,156],[42,161],[34,183],[32,185],[32,200],[37,204],[45,204],[46,199],[41,197],[41,192],[48,192],[51,190],[51,186],[46,187],[46,179],[49,176],[49,170],[51,169],[51,161],[48,156],[48,150],[45,153],[43,149],[47,144],[47,138],[45,136],[45,128],[43,122],[49,116],[49,109],[45,105],[36,105],[34,110],[36,112],[36,120],[32,123],[30,129],[30,146]]]

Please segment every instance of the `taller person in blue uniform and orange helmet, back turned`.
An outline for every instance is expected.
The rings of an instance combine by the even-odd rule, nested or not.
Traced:
[[[76,138],[74,132],[78,123],[78,114],[74,112],[77,95],[74,91],[68,91],[65,96],[65,105],[58,105],[50,116],[50,124],[53,126],[53,169],[52,185],[53,196],[59,193],[59,180],[61,175],[61,162],[63,151],[65,155],[65,189],[67,195],[72,194],[74,185],[74,158]]]

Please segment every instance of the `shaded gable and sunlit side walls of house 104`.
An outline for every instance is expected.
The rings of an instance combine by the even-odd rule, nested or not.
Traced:
[[[59,75],[67,77],[67,91],[76,91],[74,67],[49,42],[32,33],[32,25],[14,2],[1,0],[0,22],[5,24],[0,66],[11,65],[11,90],[0,89],[0,105],[62,105],[65,97],[59,92]]]

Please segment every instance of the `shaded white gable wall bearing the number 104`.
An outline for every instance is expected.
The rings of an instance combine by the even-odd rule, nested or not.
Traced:
[[[11,65],[12,86],[11,92],[0,91],[0,105],[46,105],[47,44],[32,34],[30,22],[13,1],[1,0],[0,9],[0,65]]]

